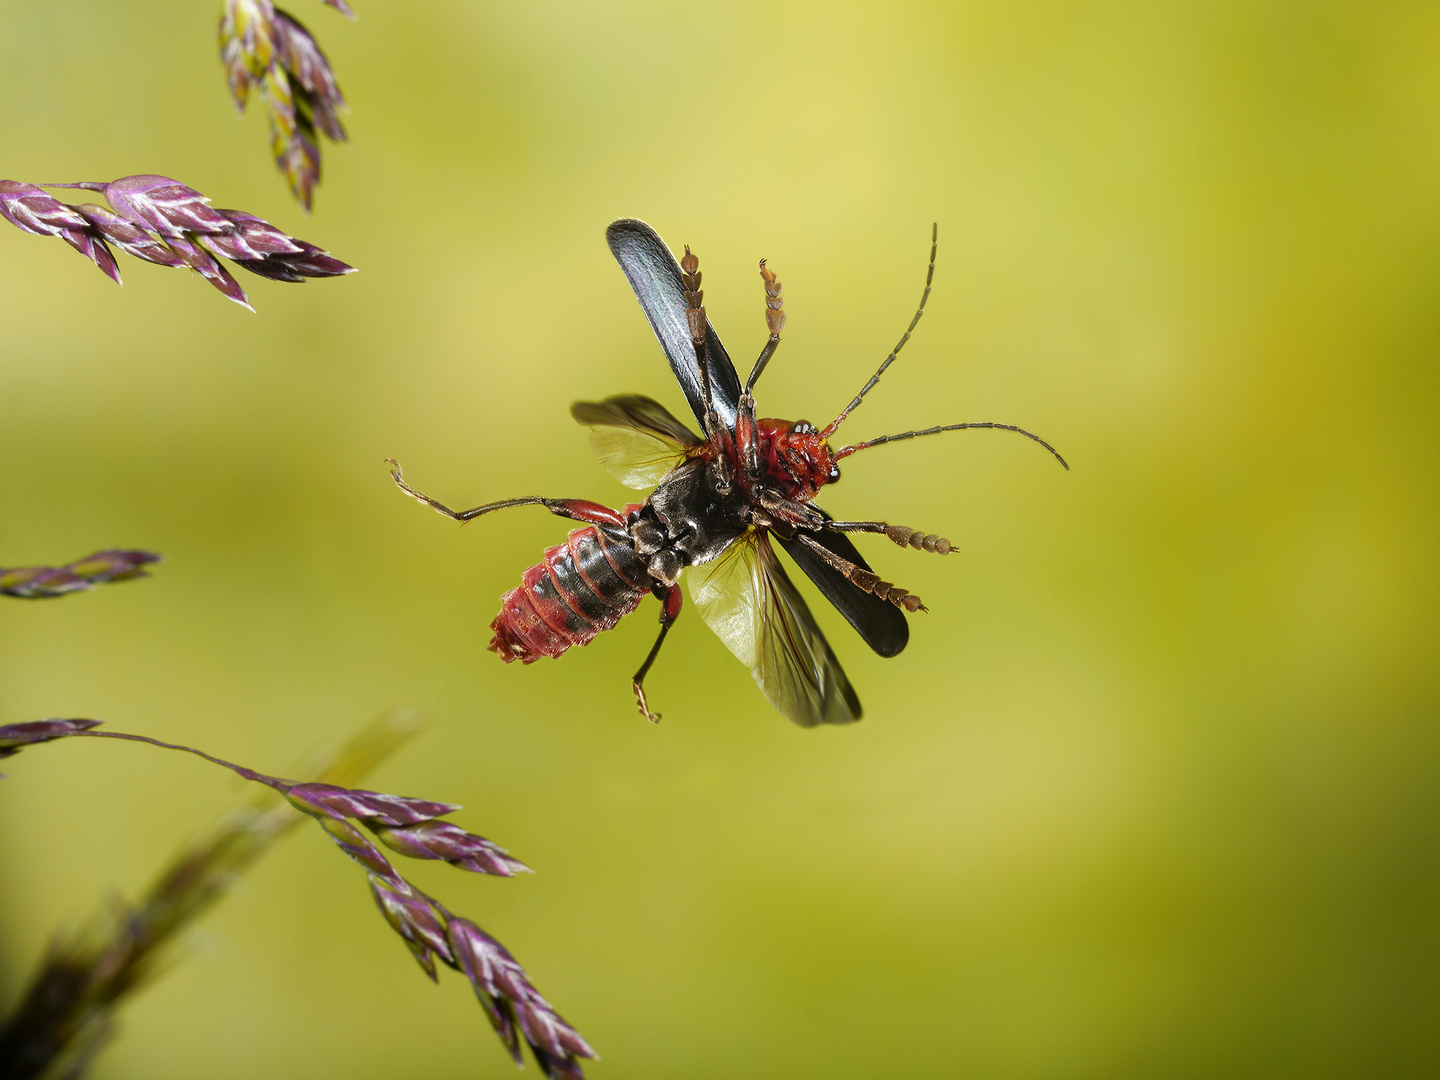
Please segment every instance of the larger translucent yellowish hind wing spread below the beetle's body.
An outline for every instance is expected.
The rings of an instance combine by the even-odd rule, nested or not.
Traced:
[[[750,533],[688,577],[700,618],[782,716],[801,727],[860,719],[860,698],[765,533]]]

